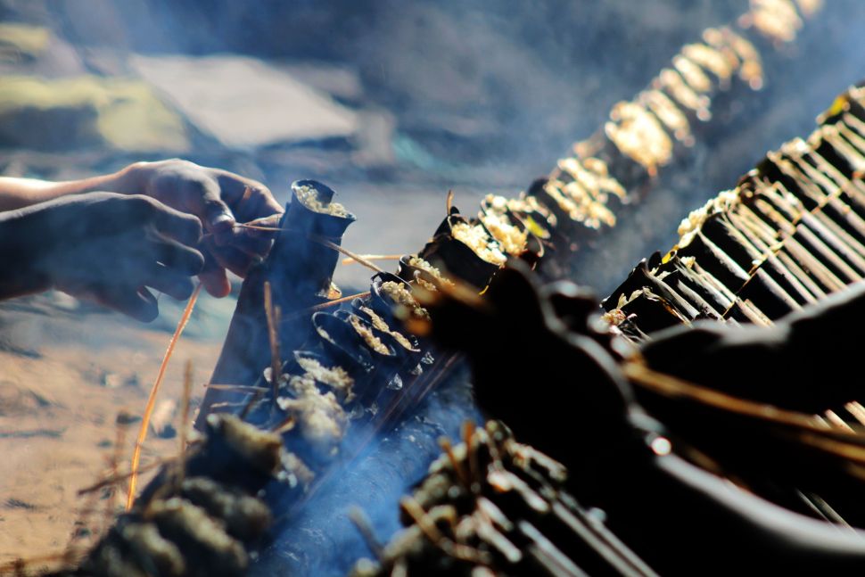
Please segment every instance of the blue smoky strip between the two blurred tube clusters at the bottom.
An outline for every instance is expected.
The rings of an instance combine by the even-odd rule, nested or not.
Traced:
[[[382,543],[400,529],[397,503],[438,457],[438,440],[457,442],[466,420],[482,423],[469,376],[465,365],[457,366],[398,426],[377,433],[358,457],[336,464],[302,507],[284,511],[275,542],[262,551],[251,575],[344,575],[359,558],[373,557],[349,518],[351,507],[363,512]],[[356,432],[347,444],[363,436]]]

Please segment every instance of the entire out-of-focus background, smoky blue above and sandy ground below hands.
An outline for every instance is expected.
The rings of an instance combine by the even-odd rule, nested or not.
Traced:
[[[69,179],[183,157],[259,179],[281,202],[292,180],[312,177],[358,216],[350,250],[414,252],[449,189],[468,213],[483,194],[517,194],[681,45],[748,6],[0,0],[0,174]],[[639,222],[611,237],[622,250],[589,255],[579,280],[610,291],[636,260],[671,246],[689,210],[810,133],[865,78],[863,26],[865,3],[829,0],[795,43],[775,46],[762,91],[714,111]],[[347,266],[335,278],[350,293],[368,274]],[[143,407],[180,306],[162,297],[161,318],[142,327],[59,293],[0,305],[0,554],[62,545],[73,489],[103,466],[119,409]],[[202,383],[233,307],[202,297],[178,349]],[[156,440],[151,456],[175,444]]]

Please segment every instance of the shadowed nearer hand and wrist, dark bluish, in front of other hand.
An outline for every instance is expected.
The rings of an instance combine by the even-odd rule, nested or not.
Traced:
[[[143,195],[73,194],[0,213],[0,247],[12,272],[0,298],[56,288],[148,322],[149,286],[185,300],[204,257],[202,226]]]

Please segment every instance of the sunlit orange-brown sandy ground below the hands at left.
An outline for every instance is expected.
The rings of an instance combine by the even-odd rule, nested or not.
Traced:
[[[165,330],[112,314],[58,309],[51,297],[24,303],[0,309],[0,565],[61,551],[76,532],[86,544],[103,530],[111,506],[122,507],[125,483],[115,499],[108,490],[77,493],[111,469],[118,434],[125,437],[116,450],[119,470],[128,470],[138,418],[170,339]],[[165,308],[162,326],[177,318],[176,306]],[[196,322],[204,324],[194,318],[190,334]],[[160,400],[181,397],[186,360],[194,364],[194,397],[201,397],[224,335],[200,333],[178,343]],[[34,338],[37,348],[27,344]],[[121,414],[132,423],[118,425]],[[177,436],[151,432],[142,462],[177,449]]]

